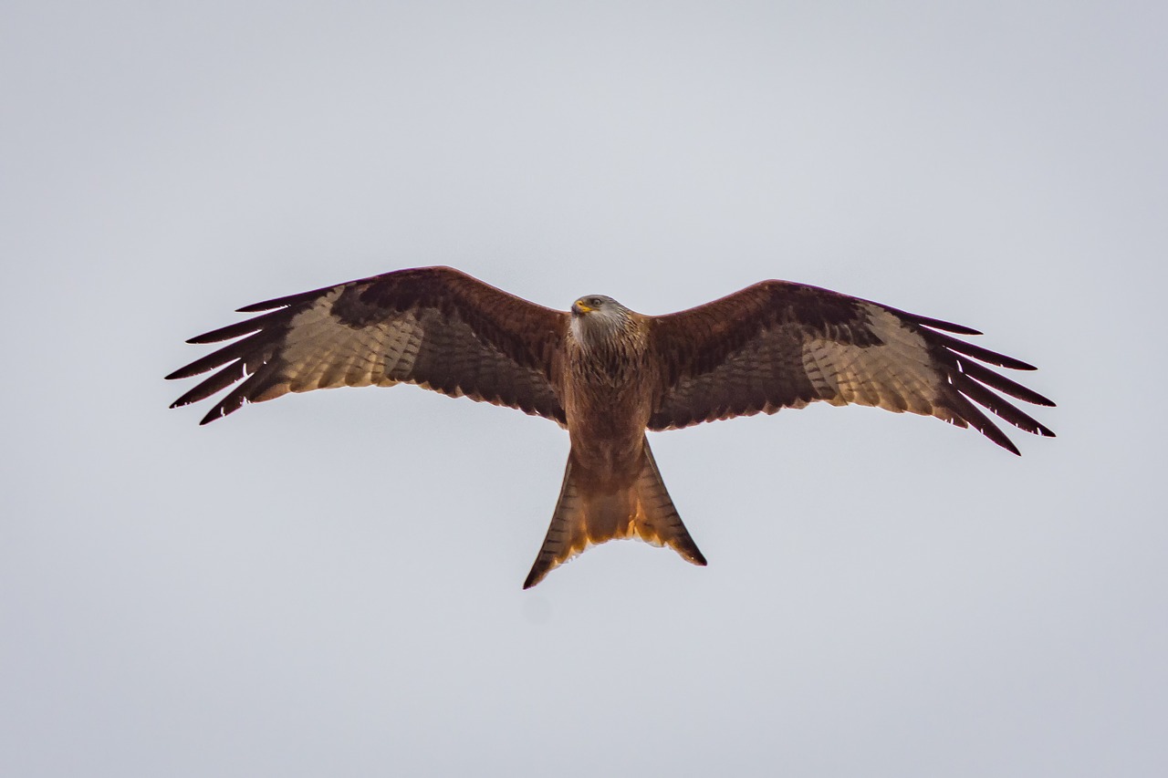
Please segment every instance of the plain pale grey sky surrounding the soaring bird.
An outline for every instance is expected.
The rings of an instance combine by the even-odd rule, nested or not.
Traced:
[[[0,5],[0,773],[1168,773],[1162,2]],[[234,308],[450,264],[967,324],[1059,437],[653,436],[710,560],[520,584],[566,436],[167,410]]]

